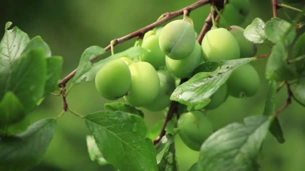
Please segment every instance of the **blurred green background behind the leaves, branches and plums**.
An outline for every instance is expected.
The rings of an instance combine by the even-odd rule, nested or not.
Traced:
[[[50,45],[54,55],[64,57],[62,76],[78,65],[83,50],[91,45],[106,46],[113,38],[120,37],[155,21],[162,13],[180,9],[196,0],[2,0],[0,2],[0,35],[7,21],[12,21],[30,37],[41,35]],[[270,0],[250,0],[251,10],[242,26],[255,17],[268,20],[272,16]],[[303,4],[296,4],[303,7]],[[293,18],[295,12],[285,9]],[[195,29],[200,32],[209,12],[204,6],[191,13]],[[279,17],[288,18],[279,10]],[[304,28],[298,30],[298,33]],[[115,47],[115,51],[132,46],[129,40]],[[229,49],[228,49],[229,50]],[[269,45],[258,45],[258,55],[268,53]],[[109,52],[107,53],[109,55]],[[264,79],[266,59],[253,62],[257,68],[261,86],[258,93],[246,99],[229,97],[224,104],[207,112],[215,129],[242,118],[261,114],[266,96],[267,81]],[[305,92],[304,92],[305,93]],[[285,88],[277,95],[277,106],[284,103]],[[103,109],[109,102],[98,95],[94,82],[81,83],[73,87],[67,97],[69,106],[81,114]],[[50,95],[30,115],[32,122],[58,115],[62,110],[62,99]],[[145,112],[148,127],[164,118],[162,112]],[[305,108],[295,101],[279,115],[285,143],[279,144],[268,134],[259,157],[260,170],[304,170],[305,160]],[[66,113],[58,120],[53,140],[42,162],[32,170],[115,170],[111,165],[99,166],[89,159],[85,137],[89,134],[83,120]],[[198,158],[177,137],[177,157],[180,170],[187,170]]]

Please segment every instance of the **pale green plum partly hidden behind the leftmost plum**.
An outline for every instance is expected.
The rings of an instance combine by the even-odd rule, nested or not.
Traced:
[[[131,84],[125,100],[133,106],[153,103],[160,92],[160,79],[153,65],[148,62],[134,62],[129,65]]]

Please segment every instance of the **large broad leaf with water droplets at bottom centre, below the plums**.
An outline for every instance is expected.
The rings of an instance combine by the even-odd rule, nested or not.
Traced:
[[[104,158],[120,170],[157,170],[153,142],[146,137],[142,117],[122,111],[99,111],[85,116]]]

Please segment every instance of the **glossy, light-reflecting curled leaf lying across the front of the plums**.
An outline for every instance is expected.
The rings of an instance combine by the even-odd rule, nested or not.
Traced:
[[[189,110],[200,109],[210,102],[210,96],[226,82],[235,68],[251,60],[252,58],[225,60],[219,70],[199,72],[179,85],[172,93],[171,100],[188,105]]]

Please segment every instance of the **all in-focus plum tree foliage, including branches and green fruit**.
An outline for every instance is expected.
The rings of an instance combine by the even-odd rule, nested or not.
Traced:
[[[191,11],[207,4],[210,15],[197,33]],[[280,7],[299,14],[290,23],[277,16]],[[40,36],[31,39],[7,22],[0,41],[0,170],[37,165],[53,137],[56,120],[66,111],[84,119],[90,131],[86,139],[90,159],[100,165],[127,171],[178,170],[176,150],[180,149],[175,148],[175,137],[179,135],[186,146],[200,151],[189,170],[258,170],[257,156],[267,132],[284,142],[279,113],[292,101],[305,106],[305,33],[299,31],[304,11],[272,0],[273,17],[266,22],[252,18],[244,29],[240,24],[250,8],[249,0],[198,0],[164,13],[105,48],[88,47],[77,69],[59,82],[62,57],[52,55]],[[183,19],[172,20],[180,15]],[[142,40],[114,53],[116,44],[133,37]],[[272,50],[255,56],[256,43]],[[107,50],[111,55],[103,56]],[[228,96],[248,100],[263,86],[259,67],[250,63],[260,58],[267,58],[263,70],[269,81],[264,111],[214,130],[209,110],[217,110]],[[82,80],[94,80],[96,92],[105,99],[125,101],[78,114],[66,97]],[[276,110],[276,91],[283,86],[287,98]],[[62,96],[63,111],[30,124],[28,115],[51,92]],[[167,113],[165,120],[148,129],[144,108]]]

